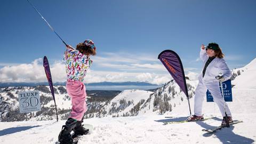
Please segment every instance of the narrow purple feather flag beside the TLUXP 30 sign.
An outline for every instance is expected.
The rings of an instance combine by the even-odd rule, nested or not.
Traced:
[[[51,75],[51,70],[50,70],[50,65],[49,62],[46,58],[46,56],[44,56],[44,71],[50,86],[50,90],[52,93],[52,97],[53,97],[53,101],[54,101],[54,105],[55,105],[55,110],[56,110],[56,115],[57,115],[57,122],[58,122],[58,112],[57,112],[57,106],[56,106],[56,102],[55,102],[55,96],[54,96],[54,90],[53,90],[53,83],[52,83],[52,75]]]

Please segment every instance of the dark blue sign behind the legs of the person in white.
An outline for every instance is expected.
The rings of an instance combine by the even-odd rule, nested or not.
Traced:
[[[219,85],[220,85],[220,83],[219,83]],[[232,90],[231,90],[231,80],[229,79],[228,81],[222,82],[222,87],[223,87],[225,101],[227,101],[227,102],[233,101]],[[220,87],[220,92],[221,92],[221,87]],[[207,90],[207,92],[206,92],[206,101],[213,102],[213,97],[209,90]]]

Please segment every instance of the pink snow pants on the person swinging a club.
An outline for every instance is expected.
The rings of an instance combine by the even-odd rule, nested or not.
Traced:
[[[67,79],[66,89],[72,102],[70,117],[81,121],[86,112],[86,92],[83,82]]]

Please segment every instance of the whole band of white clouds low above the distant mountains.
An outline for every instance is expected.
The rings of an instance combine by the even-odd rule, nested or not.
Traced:
[[[87,71],[84,78],[85,83],[140,81],[161,85],[172,79],[164,66],[157,63],[96,63],[94,61],[95,65],[101,66],[100,69],[104,69],[104,67],[111,69],[103,71],[95,70],[96,68],[92,67]],[[66,81],[64,63],[55,61],[50,63],[50,68],[53,82]],[[188,76],[191,77],[190,75],[193,74],[195,75],[195,73],[189,72]],[[42,59],[0,68],[0,82],[47,82]]]

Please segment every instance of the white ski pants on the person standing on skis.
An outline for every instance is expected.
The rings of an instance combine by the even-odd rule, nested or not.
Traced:
[[[203,101],[204,98],[206,97],[206,91],[207,89],[211,92],[212,97],[213,97],[213,101],[215,103],[217,103],[221,115],[224,117],[225,116],[225,107],[224,107],[224,100],[222,98],[222,94],[220,92],[220,87],[219,87],[219,83],[217,82],[210,82],[205,84],[203,82],[203,77],[199,76],[200,78],[198,79],[198,85],[196,87],[196,91],[195,91],[195,103],[194,103],[194,114],[197,116],[201,116],[202,115],[202,106],[203,106]],[[227,111],[227,115],[231,116],[230,110],[228,108],[227,103],[225,102],[226,105],[226,111]]]

